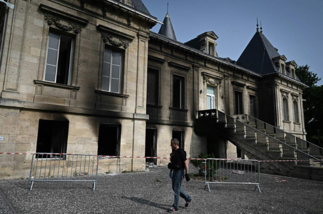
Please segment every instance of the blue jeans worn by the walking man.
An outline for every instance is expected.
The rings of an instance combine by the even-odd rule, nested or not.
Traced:
[[[185,170],[173,170],[173,174],[172,174],[172,189],[175,192],[175,196],[174,196],[174,204],[173,207],[175,209],[178,209],[178,202],[180,200],[180,196],[185,199],[185,201],[189,201],[192,199],[191,196],[187,195],[182,189],[182,180],[184,178],[185,175]]]

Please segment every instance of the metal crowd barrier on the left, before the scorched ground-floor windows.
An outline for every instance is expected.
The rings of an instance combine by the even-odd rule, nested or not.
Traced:
[[[97,155],[35,153],[33,154],[29,184],[34,181],[93,182],[98,180],[99,157]]]

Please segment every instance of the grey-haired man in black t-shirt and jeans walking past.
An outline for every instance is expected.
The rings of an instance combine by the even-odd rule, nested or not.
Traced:
[[[190,180],[188,175],[188,162],[186,159],[186,152],[179,148],[179,142],[176,138],[171,140],[171,147],[173,152],[171,153],[171,162],[168,164],[168,168],[171,169],[169,176],[172,179],[172,189],[174,190],[174,204],[168,209],[168,212],[178,212],[178,202],[182,197],[186,203],[185,207],[192,201],[192,197],[187,195],[182,189],[182,180],[185,177],[186,181]],[[185,170],[185,171],[184,171]]]

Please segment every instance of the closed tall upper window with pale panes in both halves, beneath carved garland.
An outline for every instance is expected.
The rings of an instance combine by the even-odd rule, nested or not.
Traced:
[[[104,49],[102,90],[120,93],[121,53]]]

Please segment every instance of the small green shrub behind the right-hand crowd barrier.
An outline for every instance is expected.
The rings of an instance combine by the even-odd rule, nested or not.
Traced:
[[[195,158],[203,158],[203,159],[207,159],[207,158],[215,158],[214,153],[212,154],[205,154],[205,153],[200,153],[199,157],[195,157]],[[203,176],[204,175],[204,167],[205,167],[205,160],[191,160],[191,163],[193,164],[193,167],[197,168],[198,171],[198,175]],[[213,174],[215,175],[215,171],[217,169],[219,169],[220,164],[219,161],[207,161],[206,162],[206,175],[209,176],[209,172],[212,173],[212,169],[210,169],[210,167],[212,168],[212,162],[213,162]]]

